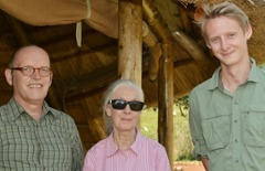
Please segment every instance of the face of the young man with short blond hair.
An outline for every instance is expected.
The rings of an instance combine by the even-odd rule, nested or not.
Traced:
[[[243,31],[236,20],[227,17],[219,17],[209,20],[205,25],[206,44],[221,64],[231,66],[242,58],[250,57],[247,52],[247,40],[252,35],[248,26]]]

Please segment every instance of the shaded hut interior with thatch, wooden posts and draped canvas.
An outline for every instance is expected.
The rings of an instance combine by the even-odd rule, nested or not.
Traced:
[[[170,151],[173,100],[219,66],[195,24],[209,2],[221,0],[0,0],[0,105],[12,96],[3,74],[10,57],[36,44],[50,54],[54,74],[46,101],[73,117],[84,151],[106,137],[103,93],[118,78],[141,85],[147,106],[167,118],[158,120],[158,135]],[[264,4],[234,2],[247,9],[250,53],[263,64]]]

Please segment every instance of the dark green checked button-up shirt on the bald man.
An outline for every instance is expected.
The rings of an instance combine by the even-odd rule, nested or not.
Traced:
[[[74,120],[44,103],[39,121],[11,98],[0,107],[1,171],[81,171],[83,150]]]

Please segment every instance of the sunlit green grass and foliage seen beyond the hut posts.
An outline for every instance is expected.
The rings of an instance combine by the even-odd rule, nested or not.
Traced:
[[[193,145],[191,142],[189,129],[189,98],[176,99],[173,111],[173,156],[174,160],[194,160],[192,157]],[[157,133],[158,111],[156,108],[142,110],[140,130],[142,135],[158,140]]]

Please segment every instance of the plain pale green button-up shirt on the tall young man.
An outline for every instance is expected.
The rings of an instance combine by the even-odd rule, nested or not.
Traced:
[[[212,78],[190,94],[190,129],[197,157],[210,171],[265,170],[265,72],[252,60],[248,79],[231,94]]]

